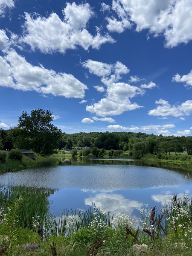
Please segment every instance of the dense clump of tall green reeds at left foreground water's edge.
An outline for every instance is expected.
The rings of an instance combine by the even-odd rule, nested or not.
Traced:
[[[34,222],[38,221],[38,230],[43,230],[44,219],[49,215],[50,202],[49,193],[45,189],[35,189],[26,186],[14,187],[8,184],[0,187],[0,208],[4,209],[4,214],[9,213],[9,206],[16,199],[22,197],[23,201],[19,205],[16,221],[19,227],[33,228]]]

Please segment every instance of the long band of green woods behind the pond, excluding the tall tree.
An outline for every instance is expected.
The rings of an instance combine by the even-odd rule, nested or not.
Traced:
[[[41,134],[41,137],[43,135]],[[42,138],[41,138],[42,139]],[[22,148],[33,150],[37,153],[44,153],[42,148],[33,148],[32,143],[27,143],[30,138],[23,139],[21,129],[19,127],[10,128],[9,130],[0,129],[0,149]],[[40,139],[39,139],[40,140]],[[145,154],[151,155],[170,155],[171,152],[181,153],[186,151],[188,155],[192,155],[192,137],[174,137],[145,133],[133,132],[80,132],[77,134],[61,133],[56,138],[53,149],[73,149],[89,147],[92,151],[104,149],[107,151],[127,152],[134,158],[142,158]],[[43,141],[44,142],[44,141]],[[35,140],[35,145],[38,140]],[[46,145],[48,145],[49,140]],[[53,153],[51,151],[50,153]],[[49,152],[45,152],[45,154]]]

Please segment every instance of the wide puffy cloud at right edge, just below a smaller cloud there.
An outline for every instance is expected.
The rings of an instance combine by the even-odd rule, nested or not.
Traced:
[[[151,116],[189,116],[192,113],[192,100],[187,100],[183,102],[181,105],[173,105],[171,106],[168,101],[164,99],[160,99],[155,102],[159,106],[157,108],[148,111],[148,115]]]

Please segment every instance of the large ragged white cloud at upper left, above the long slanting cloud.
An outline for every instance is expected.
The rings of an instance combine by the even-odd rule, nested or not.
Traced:
[[[47,18],[37,13],[25,13],[20,43],[29,44],[32,50],[37,48],[44,53],[65,53],[67,49],[75,49],[78,45],[88,50],[89,47],[99,49],[102,44],[115,42],[107,33],[101,35],[99,28],[96,28],[95,36],[88,32],[88,22],[94,16],[88,3],[67,3],[63,15],[64,19],[61,20],[56,13]]]

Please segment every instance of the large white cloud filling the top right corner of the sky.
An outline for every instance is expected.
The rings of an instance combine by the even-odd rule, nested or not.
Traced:
[[[113,0],[112,10],[117,17],[107,19],[110,32],[120,33],[135,24],[137,32],[148,29],[154,36],[163,35],[166,47],[192,40],[191,0]]]

